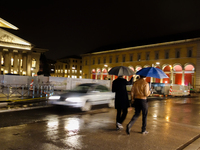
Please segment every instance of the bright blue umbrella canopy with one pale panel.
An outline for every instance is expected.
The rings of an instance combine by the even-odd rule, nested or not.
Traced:
[[[139,70],[136,75],[142,75],[146,77],[154,77],[154,78],[169,78],[161,69],[154,67],[142,68]]]

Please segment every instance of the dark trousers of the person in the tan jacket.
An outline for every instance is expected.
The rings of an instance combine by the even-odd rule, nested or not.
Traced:
[[[135,99],[135,114],[133,115],[128,127],[131,128],[137,118],[140,116],[142,111],[142,132],[146,130],[147,126],[147,113],[148,113],[148,102],[144,99]]]

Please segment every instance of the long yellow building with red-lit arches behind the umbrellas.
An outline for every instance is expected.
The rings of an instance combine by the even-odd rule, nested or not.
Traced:
[[[152,82],[200,88],[200,38],[87,53],[82,55],[82,60],[83,78],[113,80],[116,76],[108,75],[112,67],[127,66],[137,72],[154,66],[169,78],[153,78]]]

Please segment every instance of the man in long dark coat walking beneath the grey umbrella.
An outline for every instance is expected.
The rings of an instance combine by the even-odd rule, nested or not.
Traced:
[[[112,92],[115,92],[115,109],[117,109],[116,116],[116,127],[117,129],[122,129],[122,123],[125,120],[128,107],[130,107],[128,92],[126,90],[126,85],[131,85],[133,82],[133,77],[130,81],[127,81],[123,76],[119,76],[112,84]]]

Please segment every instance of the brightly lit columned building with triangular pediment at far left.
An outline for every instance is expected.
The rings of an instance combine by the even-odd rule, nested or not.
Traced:
[[[6,28],[18,30],[0,18],[0,74],[37,75],[40,54],[48,50],[35,48],[33,44],[8,32]]]

